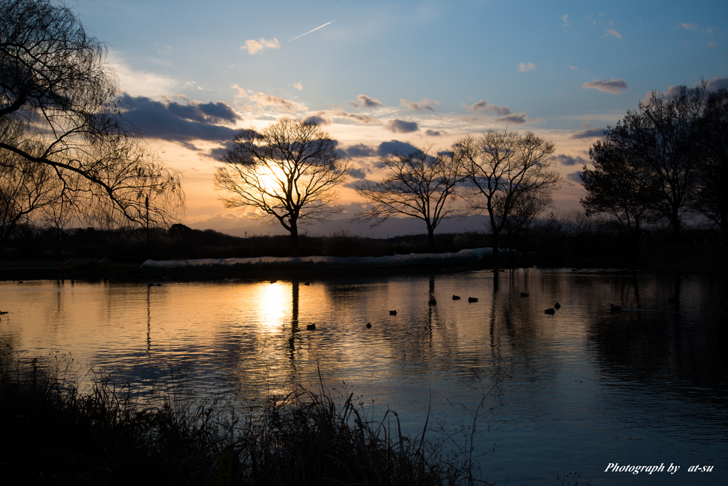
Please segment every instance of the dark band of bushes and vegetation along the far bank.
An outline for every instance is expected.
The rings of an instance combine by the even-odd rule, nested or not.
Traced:
[[[100,269],[106,275],[119,273],[118,269],[113,269],[114,264],[137,268],[149,258],[189,260],[285,257],[290,254],[290,238],[285,235],[242,238],[213,230],[196,230],[181,224],[167,230],[151,228],[149,240],[147,235],[143,228],[75,228],[62,231],[56,238],[55,230],[23,225],[16,229],[8,246],[0,252],[0,268],[41,266],[50,268],[52,276],[57,276],[63,268],[69,276],[73,276],[72,271],[79,273],[88,267],[92,274]],[[638,268],[679,272],[721,272],[728,268],[723,235],[716,229],[687,228],[680,242],[676,243],[669,227],[649,226],[642,231],[637,254],[633,252],[632,245],[624,243],[623,238],[620,228],[611,223],[593,221],[577,212],[552,213],[518,231],[506,231],[501,236],[502,247],[513,248],[516,252],[504,253],[497,261],[483,261],[478,266]],[[434,242],[435,252],[459,252],[493,244],[492,235],[486,231],[435,234]],[[302,234],[299,243],[301,256],[379,257],[430,252],[427,234],[373,238],[337,231],[327,235]],[[71,259],[74,259],[73,263],[69,261]],[[100,264],[102,261],[104,264]],[[21,272],[12,278],[34,277],[23,276]]]

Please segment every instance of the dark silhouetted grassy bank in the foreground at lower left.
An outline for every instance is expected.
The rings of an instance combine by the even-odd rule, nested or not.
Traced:
[[[215,485],[221,453],[237,458],[237,485],[490,484],[476,479],[475,427],[463,441],[427,423],[417,437],[403,436],[396,413],[375,421],[353,395],[337,403],[323,386],[256,407],[192,405],[169,394],[151,406],[108,376],[80,392],[68,362],[20,362],[9,346],[2,360],[7,484]]]

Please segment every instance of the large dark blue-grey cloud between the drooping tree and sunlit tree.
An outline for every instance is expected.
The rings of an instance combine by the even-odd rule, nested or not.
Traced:
[[[135,124],[147,137],[182,143],[192,150],[197,150],[192,144],[194,140],[232,140],[238,130],[220,123],[232,124],[241,119],[222,101],[190,101],[182,105],[176,101],[162,103],[148,97],[123,94],[119,97],[119,108],[122,109],[124,119]]]

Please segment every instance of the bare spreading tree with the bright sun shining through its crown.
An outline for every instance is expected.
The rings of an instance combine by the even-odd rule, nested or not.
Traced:
[[[265,130],[242,130],[221,157],[215,189],[225,207],[251,207],[266,223],[290,232],[298,256],[298,226],[341,212],[336,187],[349,163],[336,156],[336,140],[316,124],[281,119]]]

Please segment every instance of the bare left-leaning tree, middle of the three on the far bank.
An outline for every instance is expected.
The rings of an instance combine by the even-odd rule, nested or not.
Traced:
[[[457,197],[459,167],[451,154],[430,155],[430,148],[381,159],[384,180],[355,188],[374,207],[354,219],[376,226],[400,215],[418,218],[424,221],[430,251],[434,250],[435,228],[455,212],[451,203]]]

